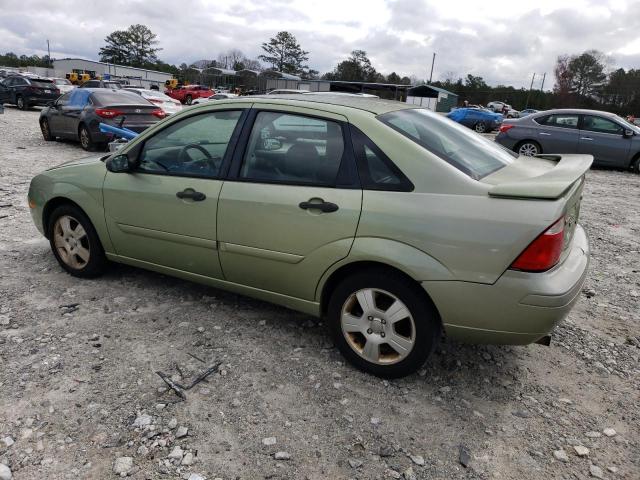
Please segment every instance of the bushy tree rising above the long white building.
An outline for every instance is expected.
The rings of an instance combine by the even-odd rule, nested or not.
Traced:
[[[104,39],[100,60],[133,67],[144,67],[158,61],[157,35],[145,25],[131,25],[127,30],[116,30]]]

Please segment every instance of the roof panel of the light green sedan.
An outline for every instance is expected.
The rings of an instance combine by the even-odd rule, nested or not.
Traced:
[[[341,113],[344,108],[363,110],[380,115],[397,110],[419,108],[409,103],[395,100],[382,100],[371,97],[351,97],[346,95],[250,95],[230,99],[230,101],[243,101],[247,103],[264,103],[277,105],[291,105],[296,107],[322,108],[323,110]]]

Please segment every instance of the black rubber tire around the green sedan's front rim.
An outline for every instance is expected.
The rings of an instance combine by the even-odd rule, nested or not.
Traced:
[[[85,235],[77,242],[78,245],[81,245],[89,251],[89,258],[84,261],[83,265],[78,265],[77,267],[72,266],[69,261],[64,260],[61,252],[59,251],[61,247],[56,246],[56,240],[59,239],[55,231],[57,228],[56,223],[58,219],[62,219],[63,217],[71,219],[70,226],[72,228],[77,230],[77,224],[79,224],[84,229]],[[47,236],[49,237],[49,244],[53,255],[67,273],[74,277],[93,278],[101,275],[106,270],[108,262],[107,257],[104,254],[104,249],[102,248],[102,243],[100,243],[100,238],[98,237],[95,228],[93,228],[91,220],[89,220],[85,213],[75,205],[61,205],[51,212],[47,221]],[[75,257],[76,260],[81,260],[78,256],[75,256],[75,254],[70,255],[68,251],[66,255]]]

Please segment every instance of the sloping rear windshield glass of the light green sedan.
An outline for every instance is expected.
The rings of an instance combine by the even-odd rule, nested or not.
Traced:
[[[378,119],[476,180],[516,158],[497,143],[424,108],[389,112]]]

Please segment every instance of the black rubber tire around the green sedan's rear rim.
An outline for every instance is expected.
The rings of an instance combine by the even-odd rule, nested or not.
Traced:
[[[414,339],[413,346],[404,358],[395,361],[395,363],[380,364],[365,359],[347,341],[348,334],[343,333],[341,320],[343,308],[347,308],[347,302],[351,302],[356,292],[364,289],[376,289],[395,296],[406,306],[410,316],[413,318],[413,324],[411,325]],[[384,293],[382,296],[385,296]],[[363,310],[360,319],[365,321],[365,315],[366,312]],[[367,319],[369,318],[372,317],[367,317]],[[360,370],[384,378],[398,378],[414,373],[429,358],[441,336],[438,312],[426,296],[426,293],[421,291],[420,287],[409,278],[385,269],[362,270],[343,279],[336,286],[329,299],[327,320],[333,340],[342,355]],[[377,319],[374,319],[371,323],[373,324],[376,321]],[[405,319],[398,323],[406,321],[410,321],[410,319]],[[386,329],[388,327],[385,325],[382,328]],[[396,327],[392,328],[395,331]],[[371,333],[372,329],[369,328],[367,334]],[[355,333],[355,335],[360,334]],[[379,335],[384,337],[382,333]],[[365,338],[364,335],[361,336],[363,339]],[[395,353],[389,348],[387,345],[387,350]],[[379,349],[378,352],[381,352],[381,350]]]

